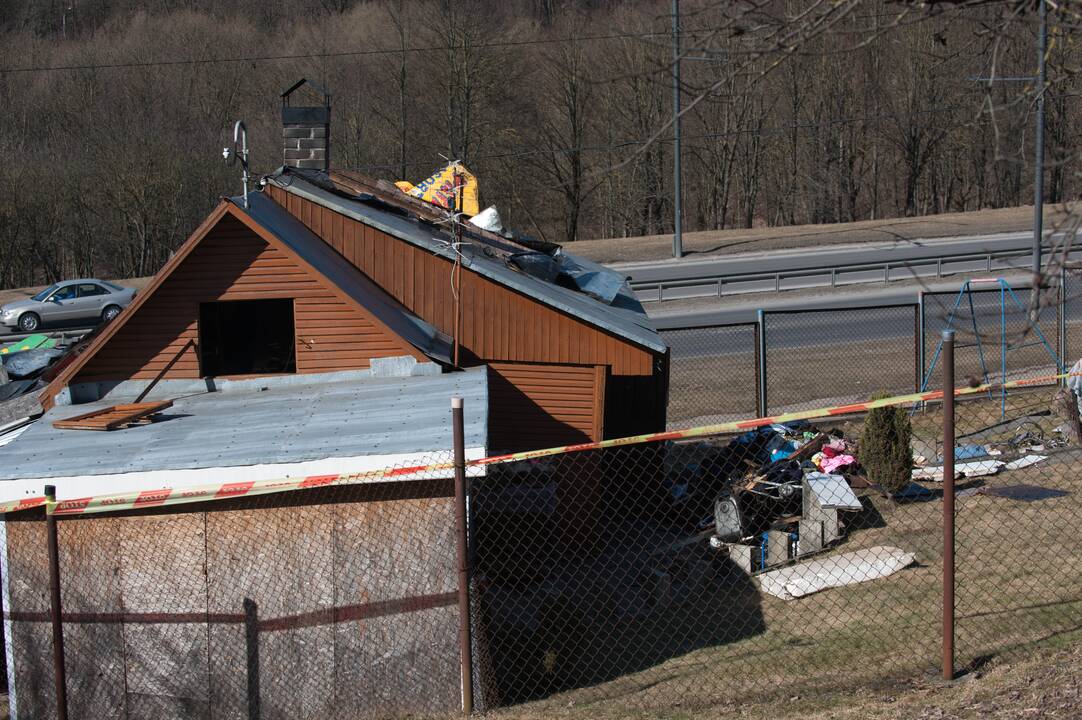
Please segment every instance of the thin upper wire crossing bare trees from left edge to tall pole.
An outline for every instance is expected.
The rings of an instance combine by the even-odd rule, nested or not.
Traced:
[[[710,32],[712,30],[700,29],[690,32]],[[504,40],[500,42],[480,42],[474,45],[427,45],[413,48],[379,49],[379,50],[343,50],[340,52],[321,53],[295,53],[288,55],[240,55],[236,57],[182,57],[176,60],[160,60],[131,63],[95,63],[87,65],[38,65],[27,67],[0,68],[0,75],[15,75],[21,73],[61,73],[71,70],[116,70],[116,69],[138,69],[147,67],[170,67],[177,65],[214,65],[225,63],[259,63],[282,60],[322,60],[329,57],[360,57],[367,55],[400,55],[403,53],[422,53],[445,50],[485,50],[490,48],[517,48],[523,45],[543,45],[566,42],[594,42],[599,40],[626,40],[646,38],[668,38],[669,32],[615,32],[610,35],[588,35],[579,37],[550,38],[544,40]]]

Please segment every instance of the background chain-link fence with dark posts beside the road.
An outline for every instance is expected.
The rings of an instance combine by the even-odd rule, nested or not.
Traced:
[[[1056,374],[1082,356],[1082,284],[1065,277],[1031,307],[1028,288],[978,282],[919,302],[766,311],[756,323],[676,327],[669,427],[843,404],[934,387],[942,330],[956,333],[960,379],[1002,382]]]

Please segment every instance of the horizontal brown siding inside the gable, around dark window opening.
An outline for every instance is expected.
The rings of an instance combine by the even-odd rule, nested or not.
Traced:
[[[292,298],[298,372],[423,357],[283,250],[225,215],[87,363],[74,382],[199,377],[199,303]],[[167,369],[168,366],[168,369]]]

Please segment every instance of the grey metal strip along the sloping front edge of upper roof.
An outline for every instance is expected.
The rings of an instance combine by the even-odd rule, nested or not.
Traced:
[[[342,197],[305,181],[296,173],[279,173],[270,176],[269,180],[277,183],[287,193],[303,197],[347,218],[353,218],[430,253],[449,260],[454,258],[454,250],[450,247],[450,238],[440,227],[422,223],[405,214],[395,214],[361,200]],[[301,220],[305,219],[302,217]],[[317,232],[317,234],[320,233]],[[483,249],[466,246],[462,252],[465,257],[466,267],[504,287],[579,317],[591,325],[654,352],[663,353],[667,350],[664,340],[654,329],[630,288],[619,292],[612,304],[606,304],[582,292],[517,272],[505,262],[487,257]],[[589,263],[585,260],[580,262]]]

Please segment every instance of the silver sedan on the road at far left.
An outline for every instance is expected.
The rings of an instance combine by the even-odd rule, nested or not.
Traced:
[[[0,323],[24,332],[35,332],[45,323],[108,323],[134,297],[135,290],[105,280],[65,280],[3,305]]]

